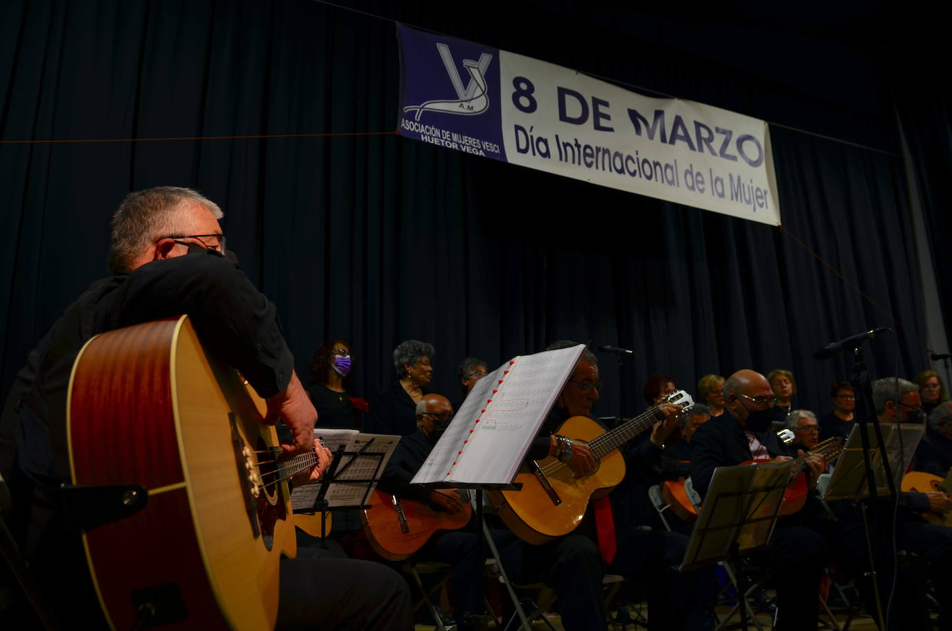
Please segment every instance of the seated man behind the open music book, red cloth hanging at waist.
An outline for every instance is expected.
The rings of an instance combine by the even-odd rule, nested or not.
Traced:
[[[555,342],[546,350],[576,344],[567,340]],[[555,432],[569,417],[591,417],[600,386],[598,359],[586,350],[556,399],[528,458],[554,456],[560,450],[560,459],[578,476],[593,473],[598,461],[585,441],[572,440],[571,448],[566,450],[564,438]],[[654,426],[649,439],[626,454],[626,477],[637,477],[643,462],[657,462],[664,440],[674,430],[680,407],[664,403],[659,409],[665,420]],[[573,532],[545,545],[525,544],[510,536],[508,545],[501,546],[501,554],[512,580],[517,584],[543,580],[552,585],[558,597],[556,609],[569,631],[605,628],[602,594],[605,568],[610,573],[649,583],[649,629],[708,628],[710,619],[704,606],[707,603],[704,586],[713,583],[704,573],[679,574],[672,569],[684,556],[686,538],[677,533],[645,532],[629,524],[617,528],[616,538],[611,532],[615,527],[610,504],[600,502],[597,515],[595,513],[590,503],[584,519]],[[691,598],[683,600],[684,594]]]

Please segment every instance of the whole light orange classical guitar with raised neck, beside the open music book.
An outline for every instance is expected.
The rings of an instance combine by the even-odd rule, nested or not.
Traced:
[[[664,403],[694,405],[684,390],[664,397]],[[509,530],[528,543],[543,544],[575,530],[585,517],[588,499],[600,498],[625,478],[625,458],[618,448],[658,421],[664,414],[657,407],[625,420],[615,429],[605,428],[588,417],[571,417],[556,434],[585,440],[598,462],[595,473],[576,478],[567,465],[554,457],[531,460],[516,481],[522,491],[488,491],[487,496]]]

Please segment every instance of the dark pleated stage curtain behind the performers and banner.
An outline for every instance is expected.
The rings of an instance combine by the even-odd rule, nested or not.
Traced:
[[[792,369],[799,401],[822,413],[848,364],[812,350],[878,325],[897,328],[869,354],[879,376],[897,362],[901,375],[927,366],[883,51],[607,3],[488,3],[466,15],[446,3],[350,4],[770,120],[790,234],[387,133],[6,143],[4,391],[105,273],[118,202],[163,184],[225,210],[228,246],[278,305],[298,371],[344,337],[364,393],[392,378],[390,352],[407,337],[436,345],[434,385],[446,393],[470,354],[496,364],[566,337],[632,348],[624,380],[603,358],[604,414],[640,408],[651,372],[693,391],[706,373],[743,367]],[[307,0],[0,8],[5,141],[391,132],[398,83],[392,22]]]

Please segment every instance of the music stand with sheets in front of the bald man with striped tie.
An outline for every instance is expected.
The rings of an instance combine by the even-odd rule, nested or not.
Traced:
[[[679,571],[722,560],[736,562],[741,556],[763,550],[777,523],[792,470],[792,460],[715,469]],[[748,589],[744,575],[730,572],[727,565],[725,568],[735,583],[738,600],[724,622],[740,608],[741,624],[746,629]]]

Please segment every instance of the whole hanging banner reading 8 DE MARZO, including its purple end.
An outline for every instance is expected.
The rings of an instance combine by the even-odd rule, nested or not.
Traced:
[[[650,98],[472,42],[399,32],[403,135],[780,225],[765,121]]]

